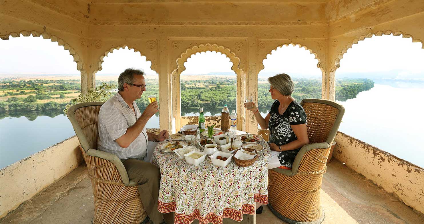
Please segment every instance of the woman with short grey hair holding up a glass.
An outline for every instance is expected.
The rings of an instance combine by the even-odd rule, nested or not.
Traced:
[[[291,169],[301,147],[309,143],[306,113],[291,97],[294,84],[289,75],[278,74],[269,77],[268,82],[271,98],[275,101],[265,119],[254,103],[253,108],[247,109],[254,113],[262,129],[270,130],[268,144],[272,152],[268,169]],[[246,103],[244,107],[246,108]]]

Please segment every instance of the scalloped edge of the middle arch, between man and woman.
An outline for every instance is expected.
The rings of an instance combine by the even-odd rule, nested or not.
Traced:
[[[202,53],[202,52],[206,52],[206,51],[216,51],[216,52],[220,52],[224,55],[226,55],[228,58],[230,58],[230,61],[233,63],[233,66],[231,67],[231,69],[237,74],[242,74],[243,70],[239,68],[240,65],[240,58],[236,56],[236,54],[234,52],[232,52],[229,48],[226,48],[222,45],[218,44],[200,44],[198,46],[193,46],[193,47],[189,47],[187,48],[187,50],[185,50],[185,52],[181,53],[181,55],[179,56],[179,58],[176,59],[176,63],[177,63],[177,68],[174,69],[171,74],[181,74],[186,68],[184,66],[184,63],[187,61],[188,58],[191,57],[191,55],[196,54],[196,53]]]

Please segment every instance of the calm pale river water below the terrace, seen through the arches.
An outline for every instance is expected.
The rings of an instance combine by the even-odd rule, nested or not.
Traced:
[[[339,102],[346,108],[340,131],[399,158],[424,167],[424,86],[375,84],[356,98]],[[260,113],[265,116],[266,108]],[[205,115],[220,114],[220,108],[205,109]],[[198,109],[181,109],[183,116],[197,116]],[[1,117],[4,117],[1,116]],[[159,115],[147,123],[159,127]],[[55,112],[22,112],[0,119],[0,168],[28,157],[75,135],[67,116]]]

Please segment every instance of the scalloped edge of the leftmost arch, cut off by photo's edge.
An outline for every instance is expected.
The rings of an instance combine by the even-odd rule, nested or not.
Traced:
[[[55,35],[50,35],[46,32],[39,33],[38,31],[35,31],[35,30],[32,30],[32,31],[21,30],[20,32],[17,32],[17,33],[11,32],[6,36],[0,36],[0,39],[8,40],[9,36],[20,37],[21,34],[22,36],[31,36],[31,34],[34,37],[42,36],[43,39],[50,39],[52,42],[57,42],[59,46],[63,46],[65,50],[69,50],[69,54],[72,55],[72,57],[74,58],[74,61],[77,64],[77,70],[80,72],[84,72],[84,69],[82,69],[82,62],[80,61],[80,57],[78,53],[75,52],[75,49],[71,47],[69,44],[67,44],[66,41],[64,41],[63,39],[60,39],[59,37]]]

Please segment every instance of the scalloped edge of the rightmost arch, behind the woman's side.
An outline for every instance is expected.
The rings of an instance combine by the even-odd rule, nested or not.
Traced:
[[[414,38],[413,36],[409,34],[404,34],[402,31],[395,31],[392,30],[386,30],[386,31],[377,31],[377,32],[371,32],[367,35],[362,35],[359,38],[355,38],[353,41],[349,42],[346,47],[343,47],[343,49],[338,53],[335,59],[335,67],[331,69],[331,72],[335,72],[338,68],[340,68],[340,59],[343,58],[343,55],[347,52],[349,48],[352,48],[353,44],[357,44],[359,41],[363,41],[365,38],[371,38],[372,36],[382,36],[382,35],[390,35],[393,34],[393,36],[400,36],[402,35],[402,38],[412,38],[412,42],[420,42],[422,45],[422,49],[424,49],[424,42],[420,39]]]

